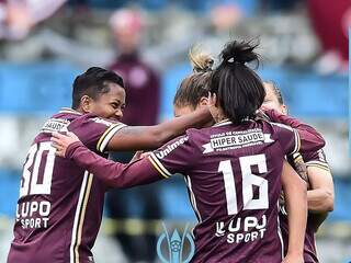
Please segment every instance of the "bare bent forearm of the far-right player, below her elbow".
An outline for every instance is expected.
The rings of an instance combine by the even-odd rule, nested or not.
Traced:
[[[307,191],[308,210],[312,213],[326,213],[333,209],[332,193],[324,188]]]

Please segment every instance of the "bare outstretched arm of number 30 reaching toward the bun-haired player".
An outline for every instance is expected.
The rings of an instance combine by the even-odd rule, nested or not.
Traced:
[[[188,128],[202,127],[211,119],[208,108],[203,107],[154,126],[126,126],[114,134],[106,150],[156,149],[168,140],[184,134]]]

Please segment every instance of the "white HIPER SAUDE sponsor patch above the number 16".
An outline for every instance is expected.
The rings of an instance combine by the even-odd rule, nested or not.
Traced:
[[[263,134],[261,129],[249,129],[240,132],[227,132],[211,136],[208,144],[203,145],[203,153],[237,149],[264,142],[273,142],[270,134]]]

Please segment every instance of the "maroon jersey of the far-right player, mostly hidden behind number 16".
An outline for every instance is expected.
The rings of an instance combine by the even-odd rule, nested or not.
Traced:
[[[306,163],[306,167],[318,167],[329,171],[329,165],[326,160],[326,156],[322,149],[318,151],[303,152],[303,159]],[[305,243],[304,243],[304,261],[305,263],[318,263],[317,250],[316,250],[316,237],[315,237],[315,226],[313,220],[314,215],[308,214]],[[284,253],[286,254],[286,245],[288,242],[288,224],[287,224],[287,214],[284,207],[280,209],[280,221],[282,229],[282,237],[284,241]]]

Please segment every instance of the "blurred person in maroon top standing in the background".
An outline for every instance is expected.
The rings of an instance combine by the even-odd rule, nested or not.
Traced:
[[[159,114],[159,77],[141,60],[138,47],[143,31],[141,16],[137,11],[120,10],[110,20],[118,56],[111,69],[117,71],[126,85],[126,108],[123,122],[128,125],[152,125]],[[133,152],[116,152],[112,159],[128,162]],[[111,216],[118,219],[115,233],[116,239],[131,262],[152,262],[156,256],[156,237],[149,233],[131,236],[124,228],[125,219],[132,215],[131,203],[135,201],[140,208],[140,219],[152,220],[161,217],[157,185],[137,187],[131,191],[111,191],[107,196],[107,206]],[[131,201],[132,199],[132,201]],[[128,205],[129,204],[129,205]],[[152,232],[152,231],[151,231]]]

